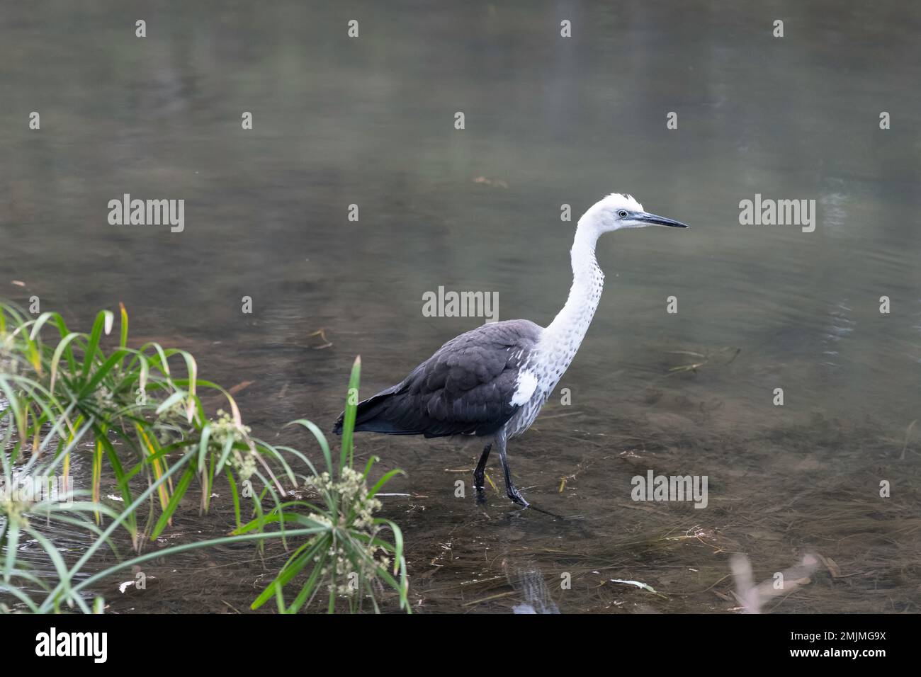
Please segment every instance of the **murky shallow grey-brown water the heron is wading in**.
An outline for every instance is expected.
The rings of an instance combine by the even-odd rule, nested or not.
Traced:
[[[575,228],[560,205],[575,219],[633,193],[692,229],[600,240],[607,284],[560,383],[571,404],[554,395],[509,446],[519,488],[562,517],[489,487],[477,505],[475,446],[358,438],[407,473],[385,512],[415,608],[510,612],[542,576],[561,613],[727,611],[731,554],[758,582],[811,552],[810,582],[766,610],[918,611],[921,9],[216,7],[159,5],[144,40],[145,11],[122,5],[0,16],[0,296],[36,295],[82,328],[123,301],[138,342],[252,381],[240,406],[272,438],[301,416],[331,425],[354,356],[369,394],[480,322],[424,317],[426,291],[497,292],[500,319],[552,320]],[[184,231],[110,226],[123,193],[185,199]],[[815,232],[741,226],[755,193],[815,199]],[[708,507],[631,500],[650,469],[706,475]],[[495,458],[489,474],[501,485]],[[228,500],[206,519],[195,505],[170,538],[227,530]],[[146,592],[106,596],[114,611],[244,610],[278,555],[183,556]]]

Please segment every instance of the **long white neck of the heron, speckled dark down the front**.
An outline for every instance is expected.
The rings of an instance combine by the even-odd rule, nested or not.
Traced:
[[[569,367],[579,344],[589,331],[589,324],[601,298],[604,274],[595,260],[595,243],[599,235],[600,232],[593,228],[590,221],[584,218],[579,220],[576,239],[570,251],[573,285],[569,289],[569,298],[541,337],[544,359],[554,363],[555,370],[559,370],[561,375]]]

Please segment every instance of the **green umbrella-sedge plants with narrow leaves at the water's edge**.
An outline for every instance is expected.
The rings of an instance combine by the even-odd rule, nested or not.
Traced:
[[[129,347],[123,306],[117,344],[107,351],[102,344],[114,321],[103,310],[90,333],[76,333],[58,313],[29,318],[0,304],[0,612],[99,612],[103,599],[90,601],[87,593],[122,569],[218,544],[262,548],[270,539],[281,540],[290,555],[253,609],[274,598],[284,613],[312,609],[319,600],[330,613],[379,611],[379,599],[390,588],[400,608],[410,611],[402,532],[374,516],[380,508],[376,495],[400,471],[385,473],[369,489],[377,459],[362,471],[354,466],[359,360],[349,382],[338,459],[317,426],[295,422],[320,446],[325,470],[318,473],[305,453],[253,437],[232,395],[198,377],[192,355],[157,343]],[[222,396],[229,411],[209,415],[204,391]],[[77,461],[91,465],[88,489],[73,485],[70,470]],[[301,466],[304,472],[297,472]],[[104,475],[114,479],[114,502],[124,508],[102,500]],[[144,552],[147,542],[169,531],[195,484],[199,510],[206,512],[222,482],[235,515],[227,536]],[[288,500],[298,488],[317,500]],[[66,549],[43,529],[52,522],[88,535],[78,558],[64,556]],[[100,549],[118,555],[125,534],[133,556],[95,570],[94,555]],[[41,548],[54,577],[34,571],[20,556],[24,539]],[[288,588],[297,589],[292,601],[286,601]]]

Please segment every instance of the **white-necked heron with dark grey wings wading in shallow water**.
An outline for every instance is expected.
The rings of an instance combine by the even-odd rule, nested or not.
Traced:
[[[688,228],[649,214],[632,195],[612,193],[593,204],[578,220],[570,250],[573,283],[554,321],[546,327],[530,320],[491,322],[451,339],[405,379],[358,403],[355,430],[484,438],[473,471],[478,496],[483,495],[486,461],[495,446],[507,496],[528,508],[508,468],[507,441],[537,418],[589,331],[604,285],[595,258],[598,239],[612,230],[647,226]],[[342,434],[343,420],[344,412],[333,433]]]

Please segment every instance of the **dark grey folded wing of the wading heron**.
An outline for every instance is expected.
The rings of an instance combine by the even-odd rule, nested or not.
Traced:
[[[528,320],[462,333],[401,383],[360,403],[356,430],[426,438],[494,433],[519,408],[511,403],[519,368],[540,333]]]

